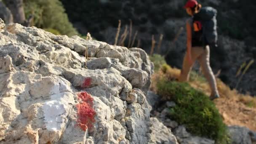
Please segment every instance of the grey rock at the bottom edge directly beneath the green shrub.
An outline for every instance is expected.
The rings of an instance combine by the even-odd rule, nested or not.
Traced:
[[[201,138],[198,136],[192,136],[187,132],[184,126],[179,126],[175,129],[174,135],[176,136],[180,144],[214,144],[215,141],[211,139]]]

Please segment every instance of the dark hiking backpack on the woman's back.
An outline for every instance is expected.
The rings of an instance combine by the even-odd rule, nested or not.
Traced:
[[[202,41],[204,45],[217,45],[217,10],[212,7],[203,7],[199,13],[194,15],[194,19],[199,19],[202,24]]]

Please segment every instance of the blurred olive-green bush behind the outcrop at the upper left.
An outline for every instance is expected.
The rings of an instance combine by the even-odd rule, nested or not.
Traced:
[[[56,29],[61,35],[77,35],[69,22],[65,9],[59,0],[24,0],[26,17],[34,15],[33,26],[42,29]]]

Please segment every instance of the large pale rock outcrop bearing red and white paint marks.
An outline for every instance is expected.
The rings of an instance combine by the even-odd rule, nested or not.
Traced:
[[[0,37],[0,144],[176,144],[150,120],[143,50],[20,24]]]

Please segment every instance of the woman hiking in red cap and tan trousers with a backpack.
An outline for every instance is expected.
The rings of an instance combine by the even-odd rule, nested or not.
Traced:
[[[189,80],[189,73],[196,60],[199,61],[203,74],[211,87],[210,99],[219,98],[216,79],[210,67],[210,48],[212,40],[216,42],[216,14],[211,7],[204,7],[196,0],[188,0],[184,6],[192,16],[186,21],[187,51],[184,56],[179,82]],[[212,40],[211,40],[212,39]]]

